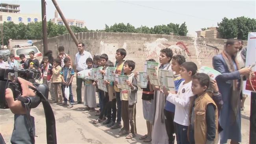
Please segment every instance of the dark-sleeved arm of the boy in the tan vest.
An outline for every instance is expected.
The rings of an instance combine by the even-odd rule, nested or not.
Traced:
[[[206,125],[207,125],[207,135],[206,135],[206,144],[213,144],[215,135],[216,135],[216,129],[215,129],[215,109],[216,107],[209,103],[207,105],[206,109]]]

